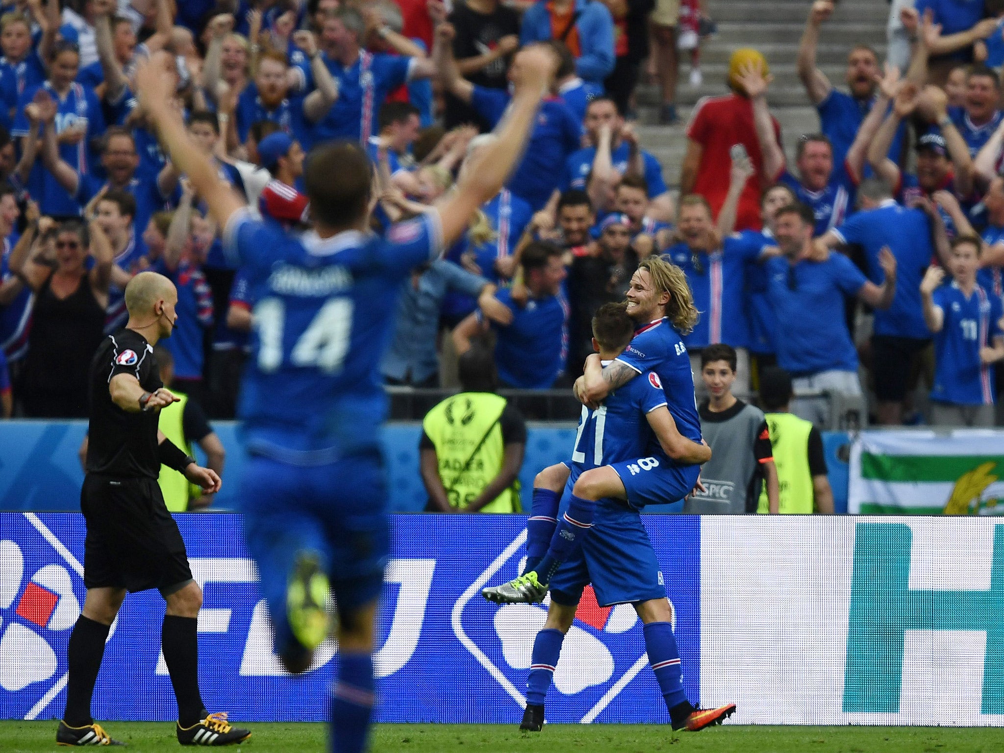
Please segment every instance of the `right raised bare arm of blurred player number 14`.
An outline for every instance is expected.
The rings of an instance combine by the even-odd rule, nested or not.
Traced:
[[[505,184],[523,154],[530,130],[536,122],[537,106],[554,76],[556,58],[545,46],[534,44],[513,61],[516,92],[509,109],[496,127],[498,137],[482,149],[461,176],[457,190],[436,204],[443,222],[444,245],[450,246],[467,229],[471,215]]]

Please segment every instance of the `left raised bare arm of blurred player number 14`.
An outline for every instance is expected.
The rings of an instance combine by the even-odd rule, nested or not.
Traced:
[[[175,92],[174,58],[157,52],[141,62],[136,72],[140,106],[157,130],[161,146],[171,162],[203,197],[219,226],[226,227],[231,215],[245,206],[229,185],[220,180],[216,168],[189,138],[181,114],[171,106]]]

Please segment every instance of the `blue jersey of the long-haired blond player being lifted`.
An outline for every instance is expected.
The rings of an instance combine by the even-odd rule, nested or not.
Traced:
[[[695,442],[701,441],[701,420],[694,399],[690,355],[669,318],[664,316],[639,329],[635,339],[616,359],[640,374],[655,371],[680,434]]]

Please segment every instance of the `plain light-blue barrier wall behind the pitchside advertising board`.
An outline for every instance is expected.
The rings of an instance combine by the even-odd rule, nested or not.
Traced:
[[[218,421],[213,428],[227,451],[227,463],[223,488],[212,509],[234,510],[238,508],[236,480],[244,463],[237,425]],[[86,430],[82,421],[0,421],[0,510],[79,510],[83,472],[77,450]],[[421,436],[422,427],[416,423],[394,423],[383,429],[394,512],[425,509],[426,490],[419,475]],[[524,505],[530,504],[533,477],[547,466],[567,460],[574,439],[574,424],[528,425],[520,473]],[[847,509],[847,442],[846,434],[823,434],[837,512]],[[200,455],[198,448],[196,455]]]

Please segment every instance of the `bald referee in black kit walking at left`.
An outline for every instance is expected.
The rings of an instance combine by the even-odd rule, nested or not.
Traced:
[[[87,596],[67,649],[66,711],[56,732],[63,745],[121,744],[94,723],[90,699],[126,592],[148,588],[167,601],[161,645],[178,699],[178,741],[229,745],[251,734],[203,706],[197,636],[202,589],[192,579],[185,542],[157,483],[163,463],[207,494],[220,489],[215,471],[197,465],[157,428],[158,413],[176,398],[161,383],[154,345],[171,336],[177,303],[178,291],[167,277],[138,274],[126,286],[126,328],[102,341],[90,364],[90,443],[80,492]]]

